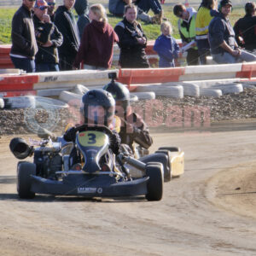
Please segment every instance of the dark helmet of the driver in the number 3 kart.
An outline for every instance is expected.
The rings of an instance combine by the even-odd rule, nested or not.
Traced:
[[[82,97],[80,113],[84,124],[109,126],[114,110],[113,96],[106,90],[89,90]]]

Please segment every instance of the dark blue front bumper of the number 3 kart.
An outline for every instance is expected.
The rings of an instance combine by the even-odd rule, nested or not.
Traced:
[[[31,190],[46,195],[81,195],[85,197],[118,197],[147,194],[148,177],[117,182],[108,175],[69,174],[61,181],[32,176]]]

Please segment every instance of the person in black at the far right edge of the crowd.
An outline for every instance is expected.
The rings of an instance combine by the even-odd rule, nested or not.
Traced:
[[[246,15],[237,20],[234,26],[237,44],[252,52],[256,49],[255,8],[255,3],[246,3]]]

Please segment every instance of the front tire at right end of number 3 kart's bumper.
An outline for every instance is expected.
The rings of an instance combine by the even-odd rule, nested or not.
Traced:
[[[148,201],[160,201],[163,196],[164,177],[163,166],[160,163],[148,163],[146,166],[146,175],[149,177],[146,194]]]

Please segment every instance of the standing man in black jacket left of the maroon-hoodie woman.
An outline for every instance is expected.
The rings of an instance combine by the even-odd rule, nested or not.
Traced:
[[[55,13],[55,26],[63,36],[63,44],[59,48],[60,69],[72,70],[73,62],[79,51],[79,29],[71,9],[75,0],[63,0],[64,5]]]

